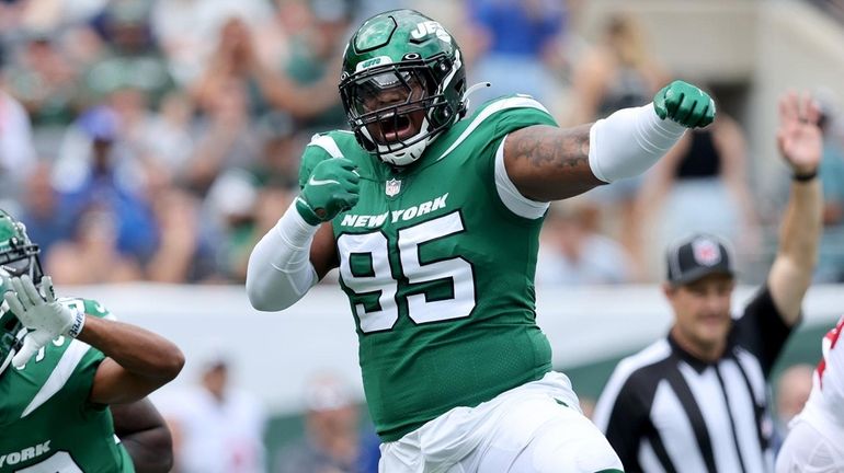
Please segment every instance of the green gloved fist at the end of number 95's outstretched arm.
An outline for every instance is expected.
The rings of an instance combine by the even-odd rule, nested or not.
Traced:
[[[660,118],[670,118],[686,128],[703,128],[715,119],[712,97],[683,81],[674,81],[657,92],[653,108]]]

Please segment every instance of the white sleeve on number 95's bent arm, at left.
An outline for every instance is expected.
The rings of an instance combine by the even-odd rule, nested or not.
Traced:
[[[308,224],[294,205],[249,255],[247,295],[261,311],[287,309],[319,279],[309,257],[319,227]]]

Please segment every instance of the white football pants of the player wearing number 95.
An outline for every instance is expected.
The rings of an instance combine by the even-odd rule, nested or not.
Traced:
[[[569,379],[543,379],[477,407],[455,407],[381,445],[379,473],[595,473],[621,471],[601,430],[580,411]]]

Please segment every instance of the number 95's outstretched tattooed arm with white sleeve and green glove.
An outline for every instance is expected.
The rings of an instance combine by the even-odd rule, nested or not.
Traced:
[[[531,126],[507,136],[504,163],[516,188],[549,201],[647,171],[687,128],[715,119],[715,102],[695,85],[674,81],[653,103],[620,109],[573,128]]]

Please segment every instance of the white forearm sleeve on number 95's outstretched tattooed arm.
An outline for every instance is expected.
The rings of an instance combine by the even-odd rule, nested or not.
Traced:
[[[623,108],[589,130],[589,166],[606,183],[637,176],[652,166],[686,128],[661,119],[653,104]]]

